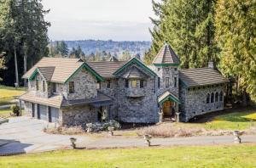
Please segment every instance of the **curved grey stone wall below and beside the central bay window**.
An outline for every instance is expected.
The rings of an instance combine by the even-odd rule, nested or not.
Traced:
[[[155,123],[159,121],[157,97],[154,92],[154,78],[148,78],[146,94],[140,98],[126,96],[125,79],[119,79],[118,120],[134,123]]]

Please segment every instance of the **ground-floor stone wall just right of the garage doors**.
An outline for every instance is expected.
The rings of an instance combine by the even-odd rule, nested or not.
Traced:
[[[81,126],[96,122],[98,109],[89,105],[72,106],[61,109],[60,120],[62,126]]]

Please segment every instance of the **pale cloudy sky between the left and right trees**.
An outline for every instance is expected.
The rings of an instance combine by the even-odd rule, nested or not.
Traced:
[[[151,0],[43,0],[51,40],[150,41]]]

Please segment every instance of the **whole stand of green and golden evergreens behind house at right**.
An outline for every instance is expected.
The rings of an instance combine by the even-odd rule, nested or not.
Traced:
[[[150,18],[152,46],[145,55],[150,64],[165,42],[181,59],[181,68],[218,65],[224,76],[235,79],[246,104],[256,101],[256,1],[162,0],[153,1]]]

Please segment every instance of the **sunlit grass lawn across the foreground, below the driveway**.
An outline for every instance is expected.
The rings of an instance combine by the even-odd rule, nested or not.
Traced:
[[[256,145],[64,150],[0,157],[0,167],[255,167]]]

